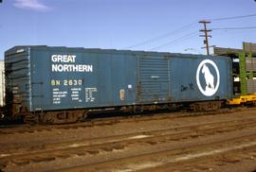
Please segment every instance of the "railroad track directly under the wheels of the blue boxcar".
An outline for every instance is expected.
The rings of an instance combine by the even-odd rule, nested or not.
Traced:
[[[249,109],[251,110],[251,109]],[[140,121],[153,121],[162,119],[173,119],[188,116],[200,116],[200,115],[213,115],[219,113],[230,113],[247,111],[247,108],[235,108],[235,109],[222,109],[216,112],[160,112],[160,113],[147,113],[141,115],[128,115],[128,116],[117,116],[117,117],[106,117],[106,118],[91,118],[88,121],[75,124],[64,124],[64,125],[2,125],[0,126],[1,134],[15,134],[15,133],[32,133],[40,132],[51,129],[78,129],[78,128],[91,128],[96,126],[107,126],[115,125],[119,123],[129,122],[140,122]]]

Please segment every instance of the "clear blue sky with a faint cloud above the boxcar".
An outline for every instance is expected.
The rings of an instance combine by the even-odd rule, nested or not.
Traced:
[[[201,20],[210,45],[256,43],[256,0],[3,0],[0,60],[15,45],[206,54]]]

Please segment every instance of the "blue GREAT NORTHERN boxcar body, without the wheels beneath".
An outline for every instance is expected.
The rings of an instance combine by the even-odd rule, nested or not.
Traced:
[[[49,46],[5,53],[12,112],[227,99],[226,57]]]

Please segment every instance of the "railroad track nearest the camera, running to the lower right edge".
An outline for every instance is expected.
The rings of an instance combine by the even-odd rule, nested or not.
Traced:
[[[247,143],[247,144],[245,144]],[[251,155],[256,155],[256,134],[250,134],[243,138],[232,138],[208,144],[197,144],[193,146],[184,146],[178,148],[170,148],[152,153],[142,154],[138,156],[131,156],[122,159],[114,159],[100,163],[84,164],[78,166],[67,167],[55,171],[158,171],[159,169],[166,169],[168,171],[172,168],[175,170],[184,170],[184,164],[180,163],[191,162],[194,159],[205,158],[208,156],[216,156],[217,154],[224,154],[229,151],[241,151],[248,149],[253,151]],[[212,158],[212,157],[211,157]],[[235,160],[237,161],[237,160]],[[227,160],[226,163],[233,163],[233,160]],[[175,163],[177,165],[175,165]],[[197,162],[198,163],[198,162]],[[172,166],[174,165],[174,166]],[[171,169],[170,169],[171,166]],[[182,168],[180,168],[180,166]],[[186,165],[187,167],[188,165]],[[210,167],[205,167],[210,169]],[[187,170],[187,169],[186,169]],[[184,171],[186,171],[184,170]],[[211,169],[212,170],[212,169]]]

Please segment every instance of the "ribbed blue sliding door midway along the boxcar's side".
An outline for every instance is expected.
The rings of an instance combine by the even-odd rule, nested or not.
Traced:
[[[169,99],[170,69],[163,58],[139,58],[139,98],[143,102]]]

